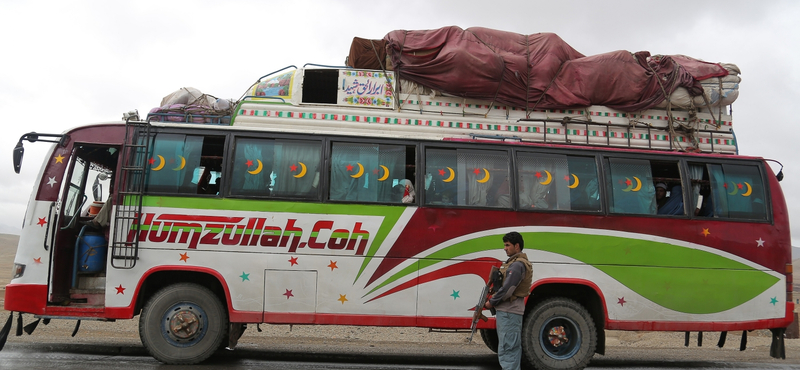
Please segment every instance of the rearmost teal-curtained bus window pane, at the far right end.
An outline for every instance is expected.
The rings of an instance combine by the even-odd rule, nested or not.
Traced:
[[[715,217],[766,220],[764,184],[757,166],[709,164]]]

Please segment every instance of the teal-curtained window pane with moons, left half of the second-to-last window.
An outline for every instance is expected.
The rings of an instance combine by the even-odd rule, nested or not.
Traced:
[[[656,214],[655,188],[650,161],[608,158],[606,178],[612,213]]]

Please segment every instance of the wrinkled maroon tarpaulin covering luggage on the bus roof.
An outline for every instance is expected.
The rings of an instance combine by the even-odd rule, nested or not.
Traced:
[[[646,51],[615,51],[585,57],[552,33],[451,26],[396,30],[384,41],[400,78],[527,109],[605,105],[640,111],[678,87],[700,95],[698,80],[728,74],[719,64],[682,55],[651,58]]]

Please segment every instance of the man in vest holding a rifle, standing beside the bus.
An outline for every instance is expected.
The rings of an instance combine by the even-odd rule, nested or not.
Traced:
[[[497,357],[503,370],[517,370],[522,358],[522,316],[525,297],[530,295],[533,267],[528,256],[522,253],[525,242],[522,235],[512,231],[503,236],[503,250],[508,260],[500,266],[503,286],[486,301],[484,307],[497,310]]]

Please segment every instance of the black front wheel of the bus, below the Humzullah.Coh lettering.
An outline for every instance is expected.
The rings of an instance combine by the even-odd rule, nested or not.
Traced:
[[[175,330],[180,328],[185,330]],[[208,288],[192,283],[156,292],[139,319],[142,344],[165,364],[202,362],[220,347],[227,332],[225,307]]]

